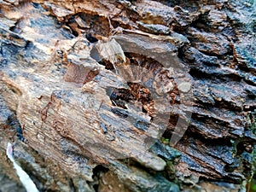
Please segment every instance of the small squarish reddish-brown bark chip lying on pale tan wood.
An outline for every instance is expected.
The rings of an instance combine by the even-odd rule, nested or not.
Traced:
[[[96,67],[84,67],[70,62],[67,66],[67,73],[64,75],[64,80],[77,84],[86,84],[99,74],[99,69]]]

